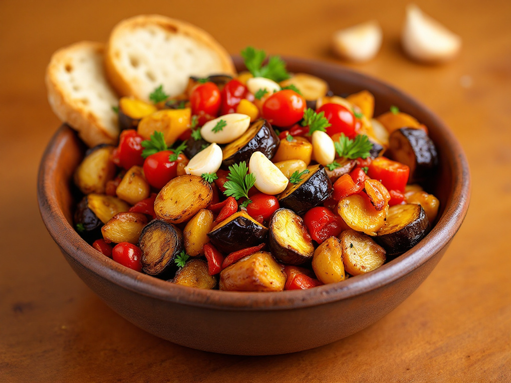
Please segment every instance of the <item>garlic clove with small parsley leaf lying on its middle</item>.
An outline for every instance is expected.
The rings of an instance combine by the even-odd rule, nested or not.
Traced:
[[[219,124],[221,121],[221,125]],[[250,116],[241,113],[229,113],[208,121],[200,129],[207,142],[229,143],[239,138],[250,125]]]

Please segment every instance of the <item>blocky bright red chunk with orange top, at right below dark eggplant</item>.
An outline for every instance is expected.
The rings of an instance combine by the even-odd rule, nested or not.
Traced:
[[[410,175],[410,168],[401,162],[378,157],[369,165],[367,175],[375,180],[380,180],[387,190],[397,190],[404,193]]]

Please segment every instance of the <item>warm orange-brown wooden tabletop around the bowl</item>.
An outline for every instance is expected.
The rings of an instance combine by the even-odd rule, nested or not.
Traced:
[[[460,57],[444,66],[415,64],[401,53],[405,4],[1,2],[0,381],[511,381],[511,3],[417,2],[463,38]],[[86,288],[45,230],[36,203],[38,162],[59,125],[46,101],[44,69],[59,47],[104,41],[116,22],[138,13],[194,22],[231,53],[253,44],[328,61],[335,61],[328,50],[333,31],[378,19],[385,36],[379,56],[353,67],[437,112],[472,170],[467,219],[420,288],[349,338],[267,357],[162,341]]]

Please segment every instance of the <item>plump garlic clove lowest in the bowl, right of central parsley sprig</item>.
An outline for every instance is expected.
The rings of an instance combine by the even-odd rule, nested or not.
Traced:
[[[255,176],[255,188],[271,196],[284,192],[287,177],[263,153],[254,152],[248,162],[248,172]]]

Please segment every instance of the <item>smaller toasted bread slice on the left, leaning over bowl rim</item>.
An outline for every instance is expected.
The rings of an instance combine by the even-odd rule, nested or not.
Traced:
[[[55,114],[93,147],[115,143],[119,103],[104,73],[104,44],[81,41],[55,52],[46,71],[48,100]]]

